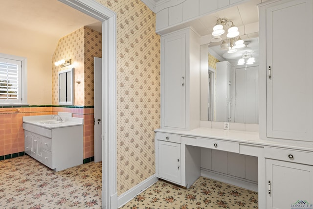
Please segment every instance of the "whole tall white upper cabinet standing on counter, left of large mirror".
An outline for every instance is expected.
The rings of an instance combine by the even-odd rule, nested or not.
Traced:
[[[161,128],[200,126],[200,37],[183,29],[161,37]]]

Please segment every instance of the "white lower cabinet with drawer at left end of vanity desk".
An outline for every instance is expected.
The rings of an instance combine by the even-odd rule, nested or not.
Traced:
[[[177,134],[156,132],[156,175],[189,188],[200,177],[200,148],[181,140],[196,140]]]

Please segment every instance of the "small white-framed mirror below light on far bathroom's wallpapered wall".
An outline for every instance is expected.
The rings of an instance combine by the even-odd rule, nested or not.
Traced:
[[[74,68],[59,71],[59,105],[74,105]]]

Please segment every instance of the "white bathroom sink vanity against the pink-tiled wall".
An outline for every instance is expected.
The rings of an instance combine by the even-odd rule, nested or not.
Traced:
[[[82,164],[84,119],[53,116],[23,117],[25,153],[54,171]]]

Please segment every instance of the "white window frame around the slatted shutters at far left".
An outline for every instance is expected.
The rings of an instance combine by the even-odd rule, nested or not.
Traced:
[[[28,105],[27,104],[27,58],[20,57],[16,55],[3,54],[0,53],[0,58],[16,60],[21,62],[21,82],[19,83],[19,88],[21,88],[21,92],[19,92],[20,99],[12,100],[12,99],[0,99],[1,106],[14,106],[14,105]]]

